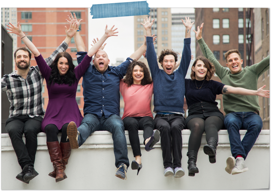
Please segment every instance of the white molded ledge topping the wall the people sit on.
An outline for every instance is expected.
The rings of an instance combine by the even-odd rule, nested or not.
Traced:
[[[240,130],[241,139],[244,138],[245,133],[247,130]],[[143,130],[138,131],[139,140],[141,147],[145,147],[143,144]],[[125,136],[127,140],[127,147],[131,147],[128,131],[125,131]],[[190,130],[182,130],[182,144],[183,147],[188,146],[188,140],[190,136]],[[58,140],[60,141],[61,132],[58,134]],[[227,130],[220,130],[218,132],[218,147],[229,147],[229,135]],[[25,137],[23,135],[23,141],[25,142]],[[202,146],[207,144],[206,142],[206,134],[203,133],[201,138]],[[254,146],[263,146],[263,147],[270,147],[270,130],[262,130],[254,144]],[[155,144],[154,147],[161,147],[160,141]],[[79,149],[93,149],[93,148],[113,148],[113,139],[112,133],[108,131],[96,131],[91,134],[90,138],[86,140],[86,142],[79,147]],[[1,151],[11,151],[13,150],[11,140],[9,138],[9,134],[1,134]],[[37,150],[47,150],[46,145],[46,133],[41,132],[38,134],[38,147]]]

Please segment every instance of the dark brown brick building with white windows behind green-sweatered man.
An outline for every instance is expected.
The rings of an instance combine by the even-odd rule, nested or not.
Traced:
[[[222,66],[228,69],[224,54],[231,49],[238,49],[241,53],[242,68],[254,64],[251,8],[195,8],[195,26],[203,22],[202,37]],[[196,56],[200,55],[203,54],[196,43]],[[217,76],[212,79],[221,82]],[[216,102],[225,115],[222,95],[217,95]]]

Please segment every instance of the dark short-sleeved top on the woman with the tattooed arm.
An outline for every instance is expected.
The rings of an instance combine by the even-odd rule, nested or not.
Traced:
[[[188,109],[189,106],[198,102],[210,102],[217,106],[216,95],[222,94],[225,84],[214,80],[203,81],[185,79],[185,97]]]

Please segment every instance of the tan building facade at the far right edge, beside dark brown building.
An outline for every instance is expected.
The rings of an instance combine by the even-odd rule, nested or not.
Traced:
[[[259,63],[270,54],[270,20],[268,8],[254,8],[254,63]],[[270,90],[270,69],[258,79],[258,88]],[[270,98],[259,97],[261,106],[262,129],[270,129]]]

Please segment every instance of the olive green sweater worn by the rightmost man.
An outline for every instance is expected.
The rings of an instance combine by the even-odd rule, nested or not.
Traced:
[[[213,52],[210,51],[203,38],[197,42],[200,44],[203,55],[214,64],[215,73],[225,85],[257,90],[259,76],[270,68],[270,56],[268,55],[261,62],[246,66],[237,74],[231,74],[230,70],[221,66],[215,59]],[[223,107],[226,115],[230,112],[255,112],[261,109],[257,95],[223,94]]]

